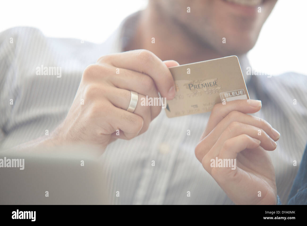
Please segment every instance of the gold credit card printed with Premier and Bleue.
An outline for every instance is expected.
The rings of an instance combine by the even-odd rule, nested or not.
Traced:
[[[237,56],[169,68],[176,95],[166,101],[167,117],[211,111],[216,103],[249,99]]]

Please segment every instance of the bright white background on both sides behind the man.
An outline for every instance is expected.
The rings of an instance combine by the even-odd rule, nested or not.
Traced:
[[[32,26],[50,37],[101,43],[126,16],[146,4],[146,0],[1,0],[0,31]],[[306,0],[278,0],[248,53],[253,68],[273,75],[288,71],[307,75],[306,21]]]

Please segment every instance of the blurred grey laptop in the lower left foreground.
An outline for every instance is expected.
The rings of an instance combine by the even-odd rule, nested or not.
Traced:
[[[99,154],[86,146],[0,151],[0,204],[110,204]]]

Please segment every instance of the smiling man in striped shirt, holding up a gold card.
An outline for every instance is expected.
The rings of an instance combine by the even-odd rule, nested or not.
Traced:
[[[270,154],[278,195],[285,200],[297,172],[293,161],[299,163],[306,143],[306,77],[293,73],[272,78],[246,75],[245,53],[255,45],[276,1],[236,2],[149,1],[146,10],[127,18],[102,45],[46,38],[30,28],[1,33],[2,148],[23,142],[20,150],[95,144],[102,153],[105,150],[103,173],[110,178],[109,195],[115,204],[232,204],[195,158],[194,149],[197,146],[196,157],[202,161],[214,146],[197,145],[206,125],[202,139],[223,117],[228,120],[225,125],[230,125],[242,114],[255,113],[257,118],[242,117],[247,131],[253,131],[252,126],[266,134],[261,140],[263,149],[274,150],[277,131],[282,134]],[[259,6],[261,13],[257,12]],[[124,52],[127,50],[132,51]],[[249,95],[262,100],[262,105],[255,100],[236,101],[227,103],[227,108],[218,105],[211,116],[209,112],[173,119],[161,112],[161,106],[141,106],[140,102],[132,112],[126,111],[131,91],[137,92],[139,99],[157,97],[158,92],[167,99],[174,97],[168,67],[229,55],[239,56]],[[36,68],[41,65],[61,67],[61,76],[37,75]],[[215,142],[227,128],[215,130]],[[252,135],[249,137],[246,142],[253,141]],[[219,140],[220,145],[223,142]],[[267,156],[261,163],[268,164],[273,192],[264,202],[255,199],[254,203],[276,203],[274,169]]]

